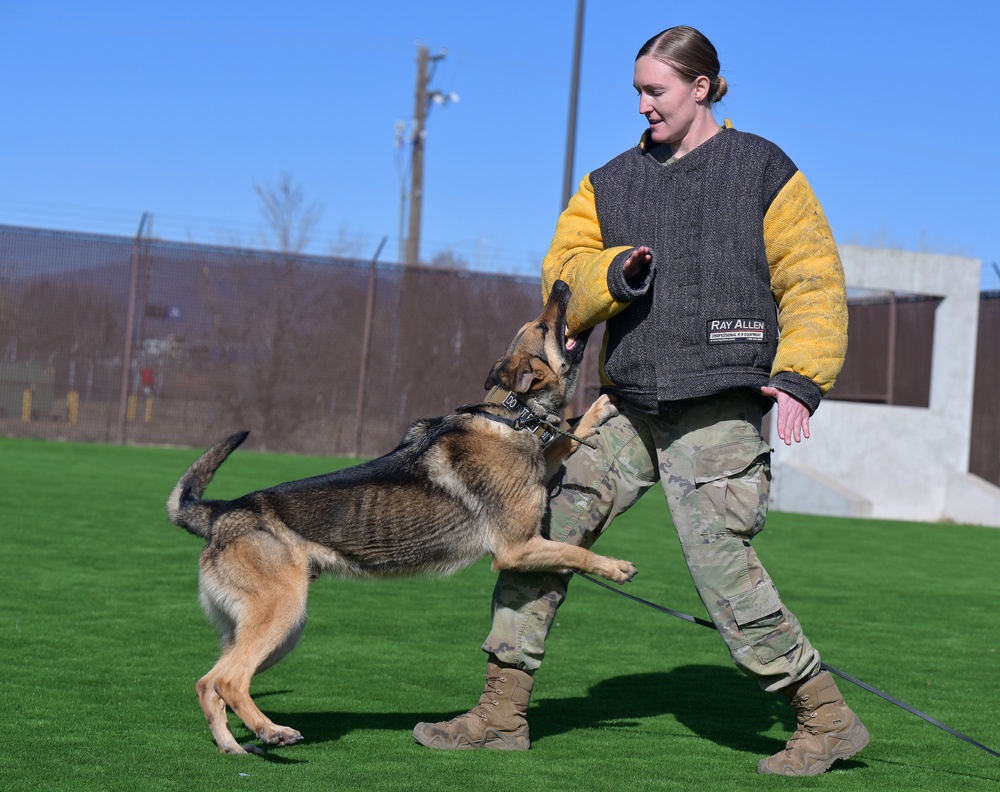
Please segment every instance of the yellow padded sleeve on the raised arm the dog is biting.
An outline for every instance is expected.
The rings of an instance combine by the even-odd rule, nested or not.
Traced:
[[[594,187],[590,174],[570,198],[559,216],[549,252],[542,261],[542,300],[547,300],[552,284],[565,281],[573,293],[567,314],[571,335],[594,327],[624,309],[608,291],[608,267],[628,247],[604,247],[601,224],[597,219]]]

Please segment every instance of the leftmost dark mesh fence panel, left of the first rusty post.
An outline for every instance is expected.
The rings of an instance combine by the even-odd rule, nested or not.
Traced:
[[[133,251],[128,239],[0,228],[4,433],[61,436],[72,410],[75,438],[110,439]]]

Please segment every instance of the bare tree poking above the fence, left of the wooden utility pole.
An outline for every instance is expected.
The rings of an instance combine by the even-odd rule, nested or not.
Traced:
[[[280,449],[329,416],[341,384],[349,389],[356,377],[355,358],[337,341],[349,336],[340,326],[343,305],[360,304],[363,293],[330,266],[299,255],[320,212],[289,174],[254,188],[269,231],[265,244],[275,252],[204,269],[201,293],[221,353],[214,371],[223,413],[252,427],[262,446]],[[337,305],[341,310],[332,310]]]

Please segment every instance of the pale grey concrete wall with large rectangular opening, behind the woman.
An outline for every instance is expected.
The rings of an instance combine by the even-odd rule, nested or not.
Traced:
[[[942,298],[930,405],[824,401],[812,437],[791,448],[772,425],[772,508],[1000,526],[1000,488],[968,472],[980,262],[854,246],[841,256],[849,287]]]

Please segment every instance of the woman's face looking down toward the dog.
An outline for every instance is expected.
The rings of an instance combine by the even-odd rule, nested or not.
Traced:
[[[651,55],[643,55],[635,62],[639,112],[649,121],[653,142],[675,145],[687,136],[699,114],[705,112],[698,102],[704,99],[707,84],[707,77],[688,82]]]

